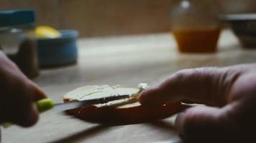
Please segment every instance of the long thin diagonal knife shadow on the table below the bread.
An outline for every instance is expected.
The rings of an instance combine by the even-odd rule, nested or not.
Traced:
[[[86,138],[92,137],[93,135],[99,134],[100,132],[104,132],[106,129],[109,129],[109,127],[104,125],[97,125],[96,127],[85,129],[81,132],[72,134],[68,137],[57,139],[55,141],[52,141],[51,143],[77,142],[78,140],[82,140],[82,139],[84,141]]]

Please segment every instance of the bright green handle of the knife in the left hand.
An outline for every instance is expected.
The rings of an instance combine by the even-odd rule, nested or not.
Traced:
[[[40,99],[37,102],[35,102],[35,104],[37,105],[38,112],[40,112],[40,113],[45,112],[54,107],[54,102],[52,102],[52,99],[49,99],[49,98]],[[8,128],[8,127],[12,126],[12,123],[5,122],[5,123],[1,124],[1,126],[4,128]]]

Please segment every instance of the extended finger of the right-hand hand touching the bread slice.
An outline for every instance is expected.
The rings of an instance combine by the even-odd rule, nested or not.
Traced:
[[[238,72],[219,68],[198,68],[178,71],[161,84],[140,96],[141,104],[164,104],[186,99],[194,103],[223,106],[227,103],[229,87]]]

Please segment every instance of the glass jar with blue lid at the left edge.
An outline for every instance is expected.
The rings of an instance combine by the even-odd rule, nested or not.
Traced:
[[[0,11],[0,49],[29,78],[39,74],[34,23],[34,11]]]

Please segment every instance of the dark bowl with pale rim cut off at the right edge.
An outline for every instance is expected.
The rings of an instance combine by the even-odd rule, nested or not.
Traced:
[[[227,14],[221,19],[229,22],[244,48],[256,49],[256,14]]]

